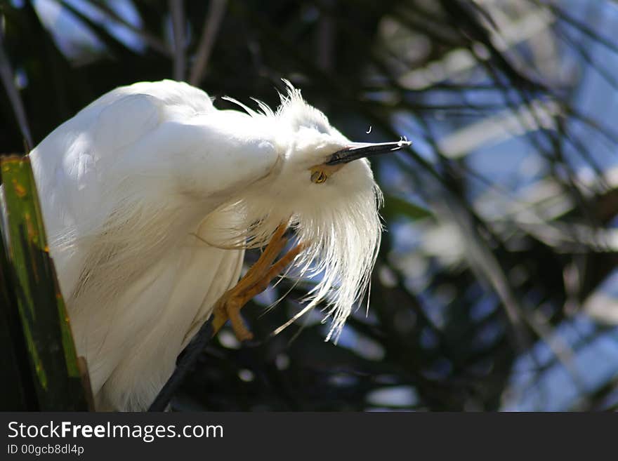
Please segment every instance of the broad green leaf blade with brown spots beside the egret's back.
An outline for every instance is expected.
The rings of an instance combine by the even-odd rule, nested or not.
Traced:
[[[49,256],[29,159],[1,161],[2,236],[41,410],[87,410],[69,318]],[[11,309],[11,307],[9,307]]]

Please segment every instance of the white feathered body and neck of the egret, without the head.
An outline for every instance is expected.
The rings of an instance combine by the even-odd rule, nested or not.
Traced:
[[[237,281],[242,250],[204,241],[234,227],[221,205],[272,170],[276,149],[248,115],[162,81],[103,95],[30,157],[93,392],[144,408]]]

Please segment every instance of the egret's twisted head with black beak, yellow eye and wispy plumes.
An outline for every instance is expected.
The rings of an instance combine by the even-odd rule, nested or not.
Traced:
[[[257,246],[289,220],[298,241],[306,245],[289,273],[316,281],[298,316],[324,302],[324,321],[331,319],[327,340],[337,340],[367,292],[381,240],[382,194],[366,157],[409,142],[351,142],[290,84],[281,100],[276,112],[262,102],[260,113],[244,107],[275,133],[280,160],[235,206],[244,210],[249,229],[245,236]]]

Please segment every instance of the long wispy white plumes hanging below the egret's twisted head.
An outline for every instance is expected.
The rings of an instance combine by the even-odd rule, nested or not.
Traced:
[[[303,242],[305,248],[287,274],[317,280],[303,298],[307,303],[303,310],[275,333],[323,304],[324,322],[331,322],[327,340],[338,340],[346,319],[369,288],[381,241],[381,203],[382,194],[375,184],[356,194],[340,196],[327,206],[315,201],[295,201],[275,207],[264,196],[250,196],[234,203],[235,212],[244,216],[244,239],[248,246],[263,246],[277,225],[289,220],[296,240]]]

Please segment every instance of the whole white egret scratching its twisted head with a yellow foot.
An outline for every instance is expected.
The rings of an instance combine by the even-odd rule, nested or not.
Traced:
[[[147,408],[216,306],[249,338],[240,307],[288,262],[320,272],[307,309],[324,302],[329,338],[367,288],[381,192],[364,157],[408,143],[350,142],[291,85],[276,112],[236,103],[244,110],[218,110],[186,83],[135,83],[29,154],[98,409]],[[272,265],[288,226],[302,243]],[[244,248],[268,241],[237,284]]]

